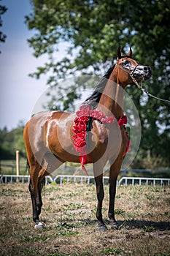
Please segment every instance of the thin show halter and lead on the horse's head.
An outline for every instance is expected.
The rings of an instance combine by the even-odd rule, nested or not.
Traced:
[[[152,97],[152,98],[159,99],[159,100],[161,100],[161,101],[163,101],[163,102],[166,102],[166,103],[169,103],[169,104],[170,104],[170,100],[168,100],[168,99],[161,99],[161,98],[159,98],[159,97],[155,97],[153,94],[150,94],[149,91],[147,91],[146,89],[144,89],[144,88],[142,87],[142,85],[139,84],[139,83],[136,81],[136,79],[134,78],[134,72],[135,72],[135,70],[136,70],[136,67],[138,67],[140,64],[137,64],[136,67],[134,67],[133,69],[131,69],[131,68],[129,68],[129,67],[121,67],[121,66],[119,66],[118,64],[116,64],[116,65],[117,65],[117,67],[119,67],[120,69],[122,69],[124,72],[128,73],[128,75],[130,75],[131,79],[134,81],[134,83],[136,84],[136,86],[137,86],[141,91],[143,91],[145,94],[147,94],[148,96],[150,96],[150,97]],[[129,72],[126,71],[125,69],[128,69],[128,70],[130,70],[131,72],[129,73]],[[144,78],[142,78],[142,80],[144,80]],[[141,80],[140,83],[142,83],[142,80]]]

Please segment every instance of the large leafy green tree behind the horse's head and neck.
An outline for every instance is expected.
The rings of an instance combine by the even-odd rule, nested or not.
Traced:
[[[33,10],[26,16],[29,29],[36,29],[28,42],[34,56],[49,56],[33,77],[49,73],[47,84],[58,85],[58,78],[77,72],[103,75],[116,56],[117,46],[129,45],[135,59],[152,67],[152,80],[146,89],[158,97],[170,96],[169,4],[166,0],[61,1],[31,0]],[[66,56],[57,59],[60,42],[69,42]],[[101,72],[103,70],[103,72]],[[144,97],[135,86],[128,89],[142,121],[142,144],[135,165],[150,155],[158,165],[169,163],[169,105]],[[150,152],[150,154],[148,153]]]

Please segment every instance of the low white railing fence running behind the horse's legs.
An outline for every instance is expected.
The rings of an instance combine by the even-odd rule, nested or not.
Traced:
[[[4,183],[15,183],[15,182],[22,182],[22,183],[29,183],[30,176],[24,175],[1,175],[0,176],[0,184]],[[103,177],[104,184],[109,183],[109,177]],[[56,183],[56,184],[69,184],[69,183],[81,183],[81,184],[95,184],[94,176],[75,176],[75,175],[58,175],[55,177],[46,176],[45,177],[45,184]],[[144,178],[144,177],[123,177],[120,178],[120,181],[117,181],[117,186],[120,185],[129,185],[132,186],[138,185],[152,185],[152,186],[169,186],[170,185],[170,178]]]

